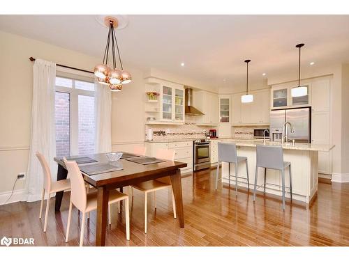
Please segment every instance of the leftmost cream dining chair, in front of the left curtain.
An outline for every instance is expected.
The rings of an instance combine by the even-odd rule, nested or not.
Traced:
[[[48,166],[47,161],[45,160],[45,157],[40,152],[36,152],[36,157],[40,161],[41,168],[43,168],[43,192],[41,195],[39,219],[41,219],[41,214],[43,212],[43,202],[45,200],[45,192],[47,193],[45,222],[44,222],[44,229],[43,229],[43,231],[46,232],[47,216],[48,216],[48,210],[50,208],[51,194],[70,189],[70,180],[66,179],[66,180],[52,181],[50,167]]]

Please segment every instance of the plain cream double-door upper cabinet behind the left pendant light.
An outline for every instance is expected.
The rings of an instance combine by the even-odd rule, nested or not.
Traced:
[[[269,124],[269,89],[256,90],[253,102],[242,103],[242,93],[232,95],[232,125],[268,125]]]

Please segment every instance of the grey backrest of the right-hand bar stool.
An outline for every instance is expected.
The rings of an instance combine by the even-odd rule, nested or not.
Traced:
[[[283,169],[283,148],[281,146],[257,145],[257,166]]]

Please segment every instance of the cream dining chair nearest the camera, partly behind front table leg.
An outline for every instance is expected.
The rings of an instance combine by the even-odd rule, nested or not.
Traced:
[[[70,219],[71,211],[73,205],[82,212],[82,221],[81,221],[81,230],[80,230],[80,246],[84,242],[84,223],[85,216],[87,213],[92,210],[97,209],[97,192],[87,193],[84,184],[84,178],[80,172],[79,166],[77,166],[76,161],[67,161],[64,159],[64,164],[68,169],[71,181],[71,194],[70,194],[70,203],[69,203],[69,214],[68,214],[68,225],[66,229],[66,242],[69,238],[69,229],[70,229]],[[129,216],[129,206],[128,206],[128,195],[113,189],[109,193],[108,200],[108,217],[110,223],[110,205],[112,203],[117,203],[121,200],[125,200],[125,216],[126,216],[126,239],[130,240],[130,216]]]

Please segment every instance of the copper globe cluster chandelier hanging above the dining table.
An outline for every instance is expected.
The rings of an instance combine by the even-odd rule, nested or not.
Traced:
[[[103,63],[98,64],[94,68],[94,75],[98,79],[98,83],[109,86],[112,91],[121,91],[122,84],[131,82],[131,74],[124,70],[121,62],[119,45],[115,36],[114,27],[118,26],[117,19],[114,17],[105,17],[105,25],[109,27],[107,35],[107,44],[105,45]],[[109,51],[112,52],[112,69],[108,67]],[[117,56],[121,70],[117,69]]]

